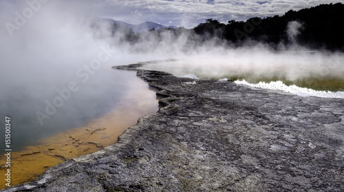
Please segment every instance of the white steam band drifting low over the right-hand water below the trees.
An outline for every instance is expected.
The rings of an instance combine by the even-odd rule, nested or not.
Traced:
[[[246,77],[279,78],[297,81],[303,78],[341,78],[343,54],[312,52],[299,47],[277,52],[263,45],[238,49],[215,49],[184,56],[179,61],[150,64],[145,69],[163,70],[178,76],[194,74],[198,78],[221,79]]]

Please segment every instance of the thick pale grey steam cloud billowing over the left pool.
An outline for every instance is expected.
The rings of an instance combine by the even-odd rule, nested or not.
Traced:
[[[0,116],[16,127],[13,150],[105,114],[135,87],[134,73],[111,66],[152,59],[131,54],[107,23],[91,28],[82,3],[30,2],[0,1]]]

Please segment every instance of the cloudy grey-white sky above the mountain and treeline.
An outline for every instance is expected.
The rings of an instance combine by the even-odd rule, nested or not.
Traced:
[[[300,10],[321,3],[338,2],[344,3],[343,0],[109,0],[88,3],[87,9],[98,17],[133,24],[153,21],[192,28],[209,18],[223,22],[231,19],[246,20],[250,17],[281,15],[291,9]]]

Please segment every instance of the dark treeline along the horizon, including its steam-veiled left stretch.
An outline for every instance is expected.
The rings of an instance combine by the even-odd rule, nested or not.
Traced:
[[[312,49],[340,50],[344,52],[344,4],[321,4],[303,10],[290,10],[283,16],[252,17],[247,21],[230,20],[227,24],[214,19],[206,19],[197,27],[188,30],[185,28],[163,28],[150,30],[158,39],[163,38],[164,32],[170,32],[178,38],[184,32],[189,33],[189,40],[193,45],[205,41],[221,41],[232,46],[250,43],[266,43],[271,47],[292,45],[297,43]],[[296,26],[290,23],[297,23]],[[288,31],[288,28],[290,30]],[[120,28],[114,25],[112,34],[118,30],[125,31],[125,41],[135,43],[142,40],[142,35],[134,33],[129,28]],[[294,34],[290,34],[294,33]]]

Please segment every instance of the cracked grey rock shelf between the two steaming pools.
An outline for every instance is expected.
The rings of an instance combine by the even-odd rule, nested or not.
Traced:
[[[343,191],[344,99],[138,76],[163,97],[158,112],[116,144],[1,191]]]

